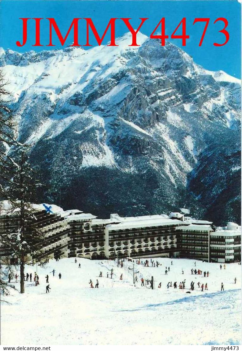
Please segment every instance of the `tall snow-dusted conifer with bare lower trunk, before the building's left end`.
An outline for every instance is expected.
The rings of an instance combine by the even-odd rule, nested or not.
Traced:
[[[5,235],[10,236],[9,251],[20,261],[20,292],[24,293],[24,268],[30,260],[39,261],[44,233],[38,229],[34,216],[36,210],[32,202],[35,195],[36,174],[29,164],[26,146],[16,151],[14,175],[9,181],[8,200],[11,204],[11,213],[14,216],[14,225],[6,228]],[[13,229],[14,228],[14,229]]]

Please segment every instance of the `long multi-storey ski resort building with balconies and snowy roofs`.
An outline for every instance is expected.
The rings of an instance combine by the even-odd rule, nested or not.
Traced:
[[[215,230],[212,222],[180,213],[98,219],[79,210],[54,207],[47,213],[36,205],[35,226],[45,234],[42,259],[84,257],[181,257],[214,262],[241,260],[240,227],[228,223]],[[49,205],[47,205],[49,206]],[[53,205],[52,205],[53,206]],[[1,228],[18,227],[18,215],[1,216]],[[4,247],[2,256],[8,256]]]

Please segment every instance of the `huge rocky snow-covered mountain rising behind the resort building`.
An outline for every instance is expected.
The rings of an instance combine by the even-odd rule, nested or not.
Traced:
[[[138,42],[1,51],[19,139],[46,184],[39,199],[102,217],[186,207],[238,223],[240,80],[169,42]]]

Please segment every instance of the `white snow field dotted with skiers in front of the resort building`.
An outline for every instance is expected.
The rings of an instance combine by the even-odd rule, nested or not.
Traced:
[[[145,267],[136,264],[135,259],[134,270],[139,271],[136,287],[128,269],[132,263],[126,260],[123,268],[117,267],[117,260],[83,258],[77,258],[77,263],[74,258],[64,258],[58,262],[50,260],[44,268],[38,266],[40,285],[25,282],[25,294],[12,289],[12,295],[4,297],[11,304],[3,302],[1,306],[1,344],[240,345],[241,266],[226,264],[226,269],[220,270],[218,263],[196,261],[195,267],[194,260],[172,259],[173,265],[169,258],[157,260],[160,266]],[[167,269],[170,266],[167,276],[166,266]],[[34,275],[35,268],[26,266],[25,274]],[[192,268],[209,271],[209,277],[192,275]],[[55,277],[50,273],[53,269]],[[100,271],[102,278],[98,277]],[[119,279],[121,273],[123,280]],[[49,293],[46,293],[46,274]],[[155,290],[141,287],[140,279],[150,279],[152,275]],[[90,288],[90,279],[94,286],[96,279],[99,280],[98,289]],[[180,290],[179,283],[184,279],[185,289]],[[194,291],[189,290],[192,280]],[[168,281],[172,284],[176,281],[178,289],[173,286],[167,289]],[[202,292],[198,282],[207,282],[208,291]],[[11,284],[20,289],[15,279]]]

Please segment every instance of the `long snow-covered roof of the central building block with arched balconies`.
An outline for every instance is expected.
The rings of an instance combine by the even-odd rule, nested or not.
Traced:
[[[149,216],[148,216],[149,217]],[[137,218],[137,217],[134,217]],[[170,218],[157,218],[157,219],[143,219],[143,220],[133,220],[124,221],[119,224],[108,224],[106,228],[109,230],[119,230],[119,229],[132,229],[132,228],[144,228],[144,227],[157,227],[161,225],[179,225],[181,221]]]

